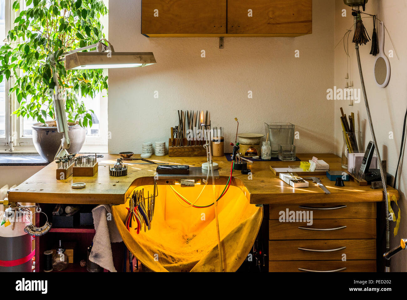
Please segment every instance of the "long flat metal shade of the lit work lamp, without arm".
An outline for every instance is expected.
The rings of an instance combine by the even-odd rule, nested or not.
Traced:
[[[65,57],[66,70],[135,68],[155,63],[152,52],[77,52]]]

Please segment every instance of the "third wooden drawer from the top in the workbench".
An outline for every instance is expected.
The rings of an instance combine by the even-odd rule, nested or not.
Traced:
[[[346,256],[344,256],[346,254]],[[376,259],[376,240],[270,240],[269,260]]]

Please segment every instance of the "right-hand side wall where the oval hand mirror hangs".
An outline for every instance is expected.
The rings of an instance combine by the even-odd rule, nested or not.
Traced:
[[[347,10],[347,17],[341,16],[341,10]],[[361,63],[363,68],[363,75],[365,79],[365,86],[369,99],[371,115],[373,119],[374,131],[376,134],[377,143],[381,145],[379,151],[382,159],[387,160],[387,171],[394,175],[396,172],[396,165],[400,153],[401,135],[403,130],[403,119],[406,111],[407,99],[407,40],[406,24],[407,18],[407,2],[400,0],[370,0],[366,4],[366,12],[370,14],[377,14],[380,20],[383,20],[387,30],[389,31],[394,45],[398,51],[400,60],[397,59],[396,54],[394,58],[389,58],[391,64],[391,77],[389,85],[386,88],[379,88],[374,81],[374,62],[375,57],[369,55],[371,43],[366,46],[360,47]],[[369,35],[372,35],[373,20],[372,18],[364,18],[363,23],[368,30]],[[352,27],[353,18],[351,15],[350,7],[346,7],[342,0],[336,0],[335,7],[335,45],[344,36],[346,29]],[[349,53],[351,56],[352,71],[350,76],[354,82],[355,88],[360,88],[359,71],[357,69],[356,52],[354,44],[352,44],[353,32],[349,38]],[[394,50],[390,42],[389,35],[385,35],[385,53],[389,50]],[[343,44],[339,44],[335,50],[335,85],[344,88],[346,82],[346,54],[344,52]],[[363,97],[363,96],[362,96]],[[340,125],[340,111],[339,107],[344,107],[345,113],[348,115],[353,111],[358,117],[361,124],[361,130],[365,132],[365,145],[372,140],[371,133],[368,126],[366,117],[366,109],[363,100],[360,104],[348,106],[347,101],[335,102],[335,141],[336,141],[336,154],[340,155],[342,147],[342,128]],[[394,139],[389,138],[389,132],[394,133]],[[397,187],[400,192],[399,205],[401,208],[401,225],[398,236],[393,236],[392,224],[392,246],[400,245],[400,238],[406,238],[407,232],[407,206],[405,205],[405,193],[407,174],[406,161],[400,163],[398,171]],[[396,211],[397,214],[397,211]],[[393,222],[391,222],[393,223]],[[392,271],[407,271],[405,261],[407,259],[407,251],[398,254],[392,259]]]

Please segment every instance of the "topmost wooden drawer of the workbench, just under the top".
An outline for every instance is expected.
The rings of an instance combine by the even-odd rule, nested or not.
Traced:
[[[325,204],[270,204],[269,218],[278,220],[284,212],[313,212],[314,219],[376,218],[376,203],[325,203]]]

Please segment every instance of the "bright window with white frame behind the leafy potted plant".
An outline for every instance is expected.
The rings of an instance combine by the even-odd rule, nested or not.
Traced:
[[[15,0],[0,0],[0,45],[4,45],[4,40],[13,20],[15,13],[11,6]],[[26,9],[24,0],[21,1],[21,7]],[[103,0],[108,7],[108,0]],[[32,7],[33,4],[30,5]],[[18,13],[16,13],[18,15]],[[107,38],[108,33],[108,17],[105,16],[102,20],[104,25],[104,33]],[[105,71],[107,75],[107,70]],[[12,80],[12,78],[10,78]],[[105,94],[105,91],[104,91]],[[82,152],[107,152],[107,95],[100,93],[94,99],[83,98],[85,107],[93,110],[92,128],[87,128],[85,144]],[[32,135],[31,126],[37,123],[36,120],[28,119],[27,117],[17,117],[10,115],[10,111],[18,108],[18,101],[11,95],[8,97],[8,85],[5,79],[0,84],[0,143],[4,143],[15,151],[36,152]],[[50,121],[47,119],[47,121]],[[8,130],[9,124],[12,124],[11,130]],[[11,132],[11,134],[10,134]],[[13,141],[9,143],[9,141]],[[0,152],[4,149],[0,149]]]

